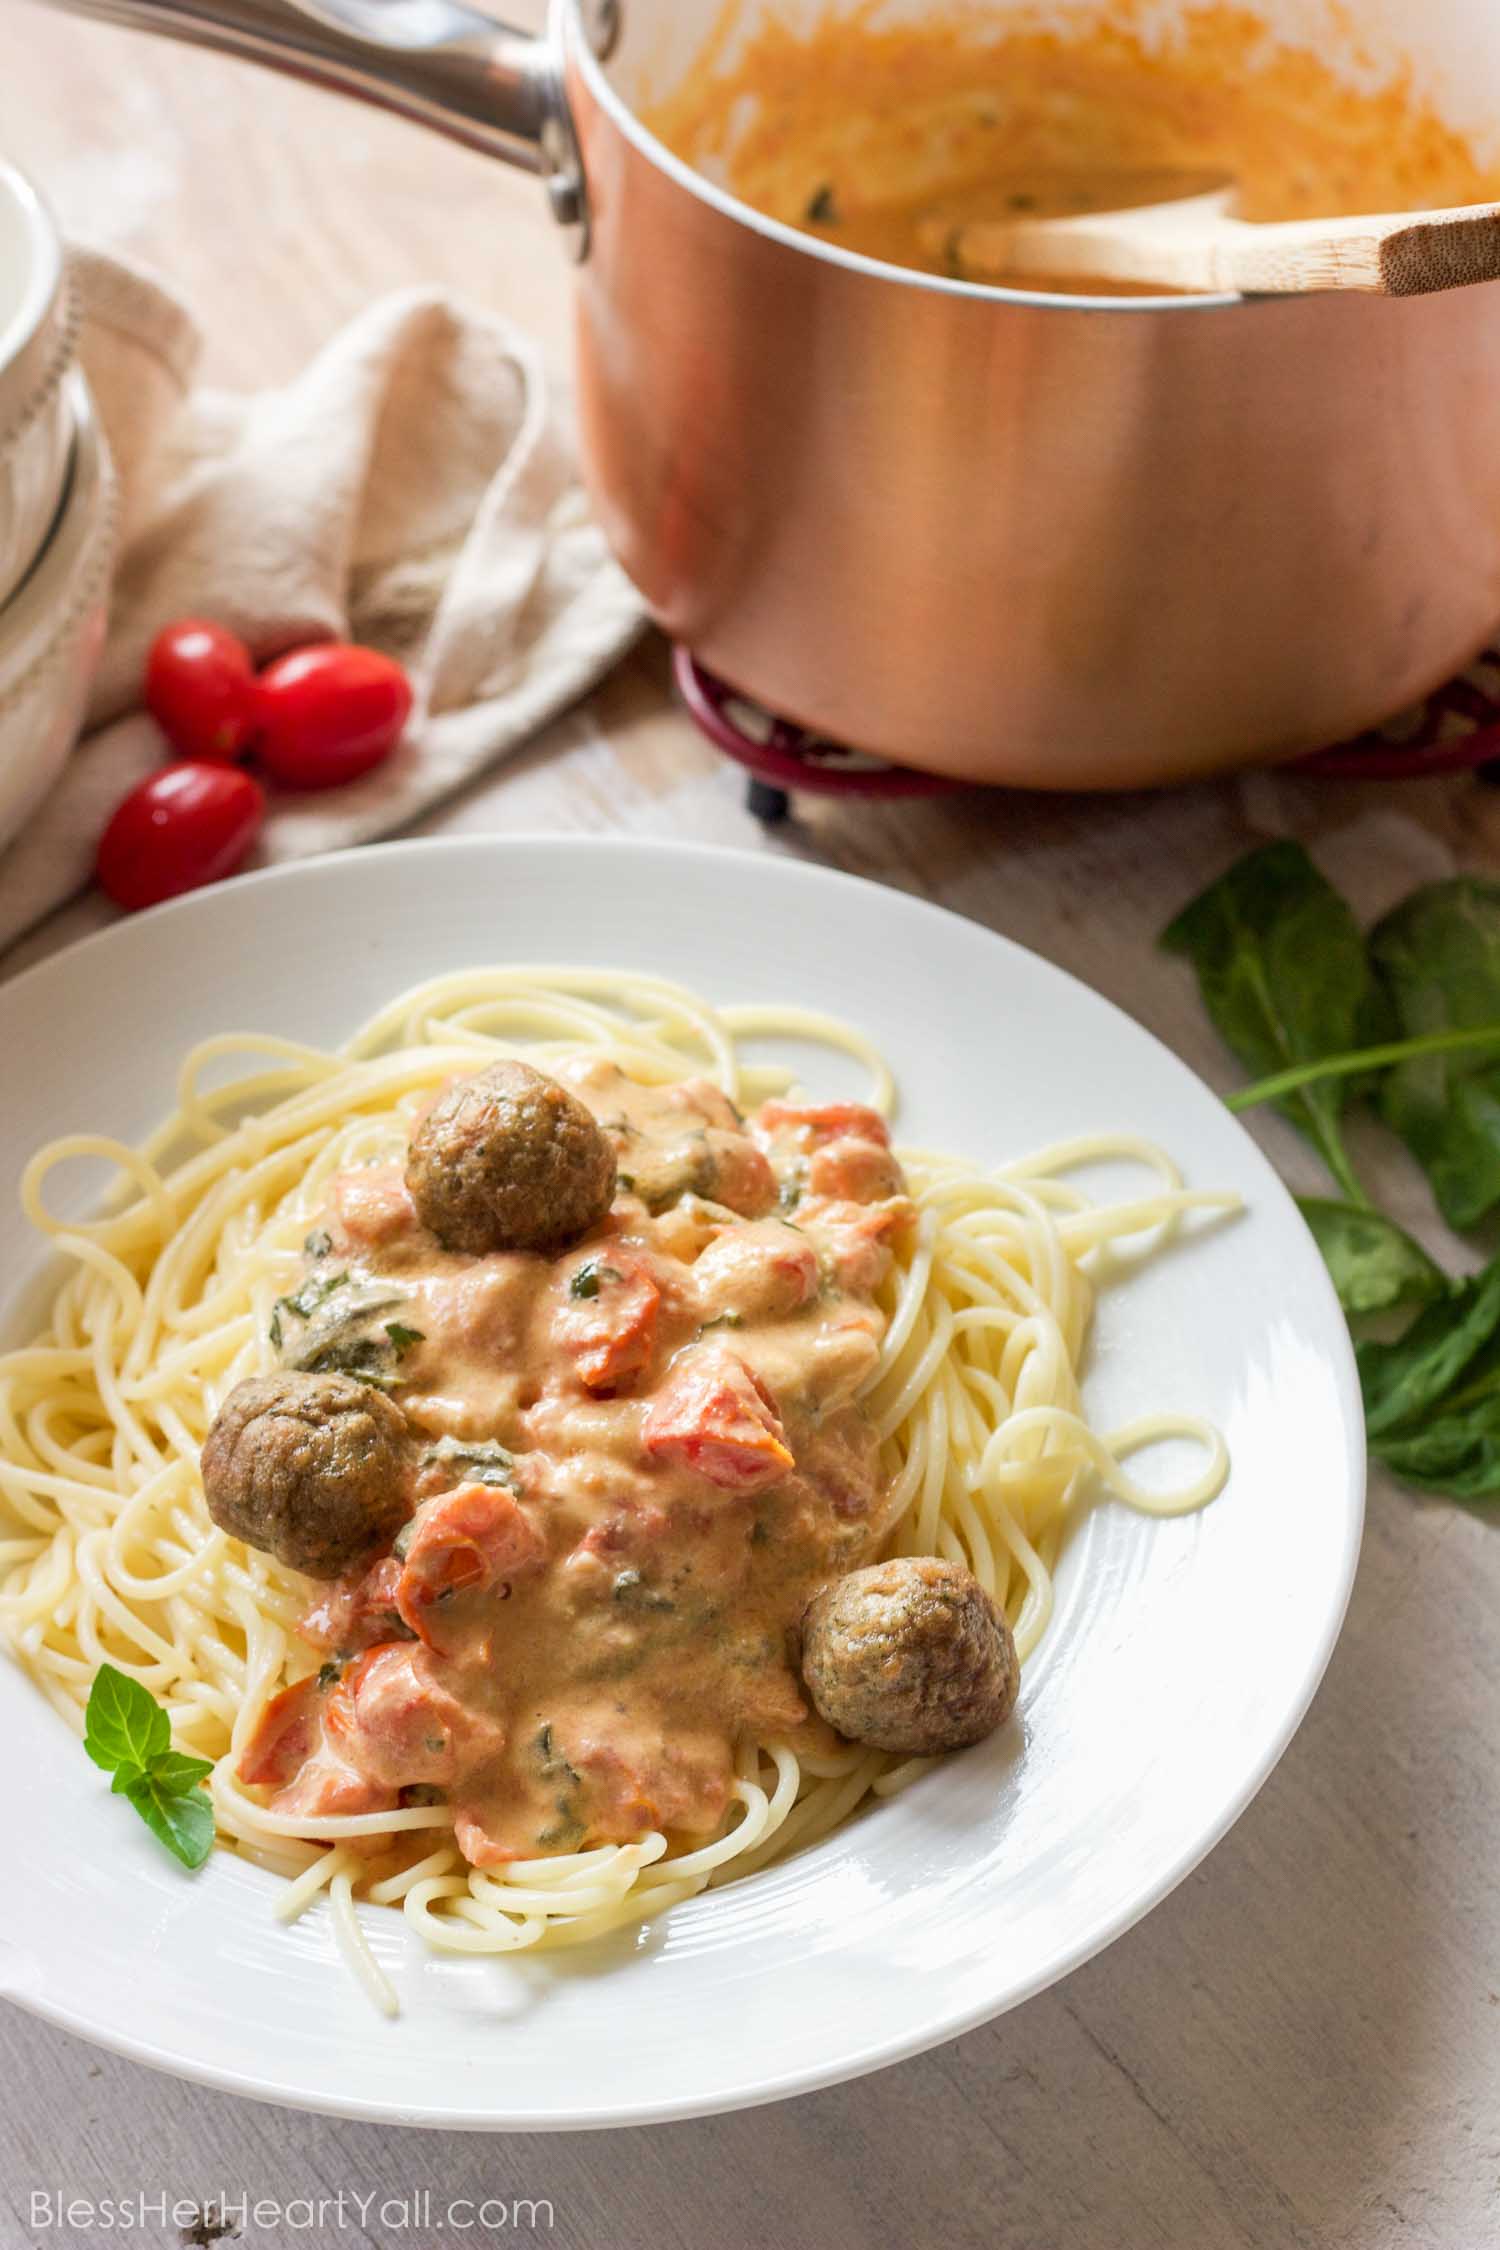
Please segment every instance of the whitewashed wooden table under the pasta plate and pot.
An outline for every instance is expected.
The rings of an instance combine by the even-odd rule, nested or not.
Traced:
[[[0,0],[0,148],[74,232],[155,259],[209,328],[214,378],[281,376],[371,295],[418,279],[499,302],[562,351],[567,277],[531,184],[304,88],[20,0]],[[1298,832],[1376,911],[1415,880],[1500,862],[1500,794],[1473,783],[1259,776],[1172,799],[807,806],[767,837],[740,778],[672,711],[652,644],[425,828],[690,835],[875,875],[1061,961],[1221,1084],[1232,1066],[1181,968],[1154,952],[1199,878]],[[99,918],[67,909],[0,974]],[[1293,1184],[1318,1181],[1286,1130],[1255,1130]],[[1399,1181],[1435,1240],[1419,1186]],[[457,2239],[1489,2250],[1498,1748],[1500,1510],[1484,1521],[1376,1478],[1349,1624],[1259,1800],[1138,1930],[1001,2023],[740,2117],[468,2138],[200,2092],[7,2007],[0,2250],[94,2241],[38,2223],[31,2198],[47,2194],[270,2196],[290,2205],[283,2223],[241,2239],[279,2250],[436,2250],[454,2234],[436,2228],[445,2200],[486,2196],[540,2210],[522,2203],[504,2228],[493,2212],[488,2232]],[[304,2223],[292,2198],[324,2198],[328,2216]],[[133,2239],[184,2236],[169,2218]]]

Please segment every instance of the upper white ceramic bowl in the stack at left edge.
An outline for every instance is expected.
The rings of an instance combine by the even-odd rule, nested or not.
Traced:
[[[31,182],[0,164],[0,603],[45,547],[67,484],[72,342],[58,232]]]

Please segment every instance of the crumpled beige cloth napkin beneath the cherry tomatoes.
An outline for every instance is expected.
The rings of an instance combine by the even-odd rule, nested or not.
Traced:
[[[112,806],[162,758],[137,711],[153,634],[220,619],[265,659],[331,634],[412,673],[394,758],[272,796],[252,864],[398,828],[573,702],[641,603],[573,470],[526,335],[436,290],[387,297],[286,389],[193,389],[198,331],[155,281],[74,252],[81,360],[121,482],[121,551],[88,729],[0,853],[0,945],[90,880]]]

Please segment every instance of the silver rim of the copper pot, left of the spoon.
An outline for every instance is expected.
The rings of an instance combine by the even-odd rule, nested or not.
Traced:
[[[747,234],[760,234],[765,241],[776,243],[783,250],[792,250],[796,256],[812,259],[821,266],[834,266],[843,272],[864,274],[870,281],[884,281],[893,288],[911,288],[933,297],[967,299],[969,304],[1019,306],[1028,313],[1093,313],[1097,317],[1118,317],[1124,313],[1131,317],[1160,317],[1163,313],[1248,310],[1255,304],[1271,302],[1241,297],[1235,290],[1217,292],[1212,297],[1068,297],[1061,290],[999,288],[992,281],[958,281],[949,274],[924,274],[911,266],[886,266],[879,259],[861,256],[857,250],[843,250],[837,243],[825,243],[819,236],[803,234],[798,227],[787,227],[780,218],[769,218],[765,212],[756,212],[749,202],[740,202],[738,196],[731,196],[726,189],[704,178],[704,173],[684,164],[679,155],[672,155],[666,142],[657,140],[657,135],[641,124],[630,104],[609,83],[605,63],[587,36],[580,0],[551,0],[551,16],[558,52],[582,79],[589,101],[603,110],[609,124],[623,133],[623,137],[648,164],[654,164],[654,169],[672,180],[675,187],[693,196],[695,202],[704,202],[708,209],[717,212],[720,218],[744,227]]]

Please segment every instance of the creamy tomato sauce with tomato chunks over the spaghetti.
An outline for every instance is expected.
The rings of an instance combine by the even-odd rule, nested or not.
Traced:
[[[882,1118],[553,1076],[616,1150],[587,1240],[445,1251],[400,1166],[355,1168],[277,1330],[380,1379],[418,1472],[391,1552],[313,1602],[328,1663],[241,1780],[306,1818],[436,1791],[477,1865],[704,1838],[742,1737],[828,1744],[796,1627],[886,1532],[859,1388],[911,1204]]]

